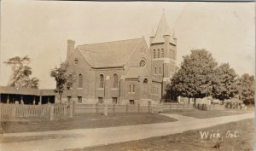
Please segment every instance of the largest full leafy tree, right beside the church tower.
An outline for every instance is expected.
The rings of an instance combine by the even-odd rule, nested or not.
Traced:
[[[169,92],[189,98],[203,98],[212,94],[212,78],[217,62],[206,49],[191,50],[171,79]]]

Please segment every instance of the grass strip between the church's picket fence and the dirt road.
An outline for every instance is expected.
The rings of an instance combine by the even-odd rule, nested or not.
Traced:
[[[1,122],[3,132],[25,131],[57,131],[119,125],[142,125],[152,123],[173,122],[172,119],[158,113],[116,113],[103,116],[100,113],[77,113],[74,119],[26,119],[23,121]]]

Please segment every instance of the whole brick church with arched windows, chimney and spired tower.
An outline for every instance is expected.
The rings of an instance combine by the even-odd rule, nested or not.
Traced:
[[[76,47],[68,40],[67,61],[74,83],[63,98],[79,103],[160,102],[177,70],[177,38],[165,14],[149,40],[149,48],[145,38]]]

